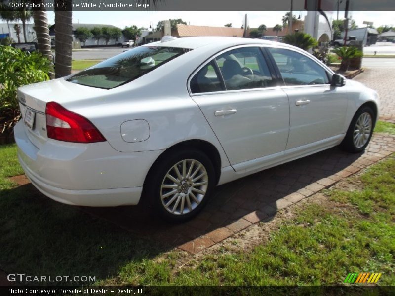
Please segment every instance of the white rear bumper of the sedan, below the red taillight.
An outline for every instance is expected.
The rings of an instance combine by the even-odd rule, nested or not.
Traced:
[[[46,196],[71,205],[136,205],[145,177],[162,151],[119,152],[109,143],[67,143],[49,139],[40,148],[19,122],[14,128],[19,162]]]

